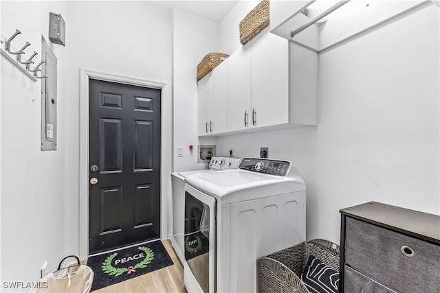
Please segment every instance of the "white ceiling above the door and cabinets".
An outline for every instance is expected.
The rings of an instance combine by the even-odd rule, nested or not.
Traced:
[[[238,0],[217,1],[217,0],[199,0],[199,1],[149,1],[147,3],[155,5],[166,10],[179,8],[191,14],[203,17],[214,23],[220,21],[230,12]]]

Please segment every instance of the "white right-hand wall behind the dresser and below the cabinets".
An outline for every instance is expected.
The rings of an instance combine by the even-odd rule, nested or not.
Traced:
[[[440,214],[439,33],[430,4],[323,51],[317,127],[220,137],[219,152],[295,163],[307,239],[338,243],[339,210],[371,200]]]

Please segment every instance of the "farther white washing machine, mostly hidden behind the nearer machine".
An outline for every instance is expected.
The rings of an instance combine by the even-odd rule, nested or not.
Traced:
[[[173,186],[173,246],[181,263],[185,262],[184,257],[184,208],[185,208],[185,178],[194,174],[221,171],[225,169],[236,169],[239,167],[240,159],[224,156],[214,156],[209,163],[209,169],[196,171],[171,173],[171,184]]]

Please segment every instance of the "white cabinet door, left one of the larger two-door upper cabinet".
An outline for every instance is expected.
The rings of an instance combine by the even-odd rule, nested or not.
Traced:
[[[250,62],[248,42],[228,58],[228,131],[250,128]]]

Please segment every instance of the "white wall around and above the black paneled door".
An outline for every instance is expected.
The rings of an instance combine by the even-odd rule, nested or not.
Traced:
[[[68,9],[71,17],[66,24],[70,54],[65,237],[67,253],[78,254],[80,69],[171,84],[172,27],[170,12],[142,1],[69,1]],[[169,115],[165,118],[170,121],[171,109],[166,109],[165,113]],[[162,145],[162,148],[163,156],[169,158],[171,150],[168,145]],[[162,180],[163,192],[168,195],[170,178]],[[166,222],[162,224],[167,225]]]

